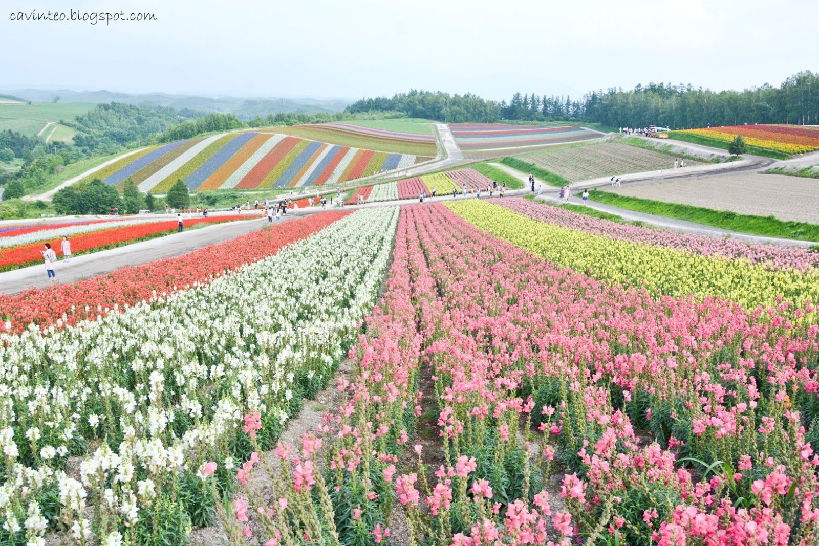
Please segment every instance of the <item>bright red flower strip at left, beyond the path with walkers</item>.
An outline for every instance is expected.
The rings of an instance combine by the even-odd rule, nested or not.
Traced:
[[[197,218],[185,219],[184,225],[186,227],[195,226],[200,223],[222,223],[232,220],[249,219],[247,216],[214,216],[211,218]],[[74,254],[94,250],[97,248],[104,248],[118,244],[120,242],[134,241],[158,235],[164,232],[176,231],[176,220],[168,220],[167,222],[148,222],[136,225],[122,226],[120,228],[101,229],[98,232],[88,232],[70,237],[71,251]],[[16,269],[25,265],[36,264],[43,260],[40,255],[40,250],[43,250],[43,244],[50,242],[55,252],[60,249],[61,237],[57,237],[52,241],[44,239],[43,241],[33,242],[29,245],[11,246],[0,250],[0,271],[7,269]]]

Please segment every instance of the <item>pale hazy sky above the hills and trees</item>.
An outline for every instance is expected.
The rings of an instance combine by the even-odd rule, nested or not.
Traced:
[[[714,89],[819,70],[819,2],[797,0],[0,0],[0,88],[265,97],[407,91],[579,95]],[[156,21],[12,21],[36,9]]]

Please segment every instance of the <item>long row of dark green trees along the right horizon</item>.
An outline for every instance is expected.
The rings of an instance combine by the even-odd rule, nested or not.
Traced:
[[[580,99],[514,93],[509,102],[486,101],[467,93],[412,90],[392,97],[364,98],[347,112],[398,111],[409,117],[450,123],[499,120],[573,121],[609,127],[660,124],[672,129],[735,124],[819,124],[819,74],[804,70],[779,87],[764,83],[743,91],[694,88],[691,84],[649,83],[631,91],[609,88]]]

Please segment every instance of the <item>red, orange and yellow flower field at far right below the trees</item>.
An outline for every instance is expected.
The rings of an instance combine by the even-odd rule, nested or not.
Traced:
[[[803,154],[819,150],[819,132],[799,125],[731,125],[686,129],[677,133],[693,134],[722,142],[731,142],[739,134],[749,146],[781,151],[785,154]]]

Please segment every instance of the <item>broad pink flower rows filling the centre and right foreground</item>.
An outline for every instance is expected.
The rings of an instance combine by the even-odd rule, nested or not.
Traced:
[[[364,544],[387,536],[393,498],[415,544],[819,536],[819,457],[806,436],[819,411],[819,327],[722,300],[654,300],[555,267],[440,205],[402,210],[387,291],[366,322],[369,336],[351,350],[359,372],[339,381],[348,402],[320,426],[334,436],[321,450],[328,471],[306,465],[317,448],[305,437],[292,485],[254,511],[285,504],[280,522],[352,513],[333,538],[360,526]],[[440,440],[424,443],[414,423],[430,400]],[[400,464],[412,444],[417,470]],[[563,510],[534,489],[556,453],[573,467]],[[494,476],[510,460],[526,478],[499,494]],[[434,485],[421,463],[433,465]],[[346,493],[331,502],[324,488]],[[320,508],[303,508],[314,498]],[[287,527],[277,532],[305,534]]]

